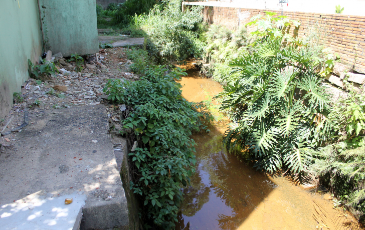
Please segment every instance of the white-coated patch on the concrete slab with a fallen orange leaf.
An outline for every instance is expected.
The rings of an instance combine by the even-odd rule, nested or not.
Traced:
[[[70,195],[47,197],[41,193],[36,192],[0,206],[1,229],[79,229],[85,195],[74,192]],[[72,198],[72,203],[65,204],[66,198]]]

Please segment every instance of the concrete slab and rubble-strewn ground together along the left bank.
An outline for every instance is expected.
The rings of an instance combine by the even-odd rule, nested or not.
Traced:
[[[71,70],[42,82],[29,79],[23,85],[22,100],[15,101],[9,115],[0,121],[0,129],[5,126],[4,131],[11,130],[23,123],[24,111],[29,110],[28,126],[21,132],[0,136],[0,224],[5,223],[9,214],[26,216],[23,222],[16,220],[22,224],[27,221],[34,224],[46,217],[55,220],[57,215],[52,216],[55,214],[52,210],[58,210],[56,203],[66,205],[60,209],[63,211],[58,213],[56,223],[65,221],[61,221],[62,215],[69,215],[68,221],[74,222],[67,229],[77,229],[75,223],[80,223],[81,216],[80,206],[76,204],[80,203],[65,204],[67,196],[74,201],[85,196],[81,229],[108,229],[127,224],[127,205],[119,175],[126,142],[119,135],[120,111],[103,100],[106,96],[102,92],[109,79],[138,80],[130,72],[130,61],[124,51],[123,48],[101,50],[104,67],[91,64],[95,69],[84,68],[80,73]],[[67,90],[52,93],[51,88],[56,86]],[[120,150],[114,154],[113,148]],[[32,219],[30,216],[39,214],[35,208],[39,200],[45,203],[40,206],[45,208],[44,213],[50,215]],[[26,215],[19,215],[16,210]],[[71,213],[79,217],[71,218]],[[10,226],[18,225],[11,223]],[[66,229],[65,225],[57,228],[57,224],[48,225],[49,228],[30,226]]]

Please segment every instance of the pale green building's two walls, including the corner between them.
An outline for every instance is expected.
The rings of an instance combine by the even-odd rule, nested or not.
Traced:
[[[5,1],[0,22],[0,119],[29,78],[28,59],[39,62],[47,50],[64,57],[99,51],[95,0]]]

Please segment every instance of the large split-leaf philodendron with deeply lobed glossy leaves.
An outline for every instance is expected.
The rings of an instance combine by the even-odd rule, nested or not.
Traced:
[[[314,133],[329,105],[319,75],[326,55],[285,34],[298,22],[272,16],[253,19],[256,39],[229,64],[239,75],[226,76],[219,95],[234,120],[224,143],[248,147],[258,169],[273,173],[285,166],[300,179],[308,172],[309,150],[318,145]]]

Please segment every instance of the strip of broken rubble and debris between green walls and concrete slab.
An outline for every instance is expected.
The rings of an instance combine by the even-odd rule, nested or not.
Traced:
[[[118,126],[119,114],[117,110],[114,111],[113,107],[110,107],[107,95],[103,94],[103,88],[110,79],[121,81],[139,79],[131,73],[132,62],[127,60],[124,51],[124,48],[106,49],[85,57],[86,60],[80,72],[76,72],[75,66],[67,62],[61,53],[53,55],[52,59],[48,58],[56,64],[59,74],[56,77],[49,76],[42,81],[29,78],[22,85],[21,92],[15,96],[15,104],[9,115],[0,121],[0,132],[4,133],[21,125],[25,110],[29,110],[30,122],[32,122],[32,116],[40,116],[48,109],[100,103],[106,105],[111,126]],[[6,143],[4,138],[0,139],[1,143]]]

